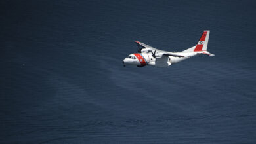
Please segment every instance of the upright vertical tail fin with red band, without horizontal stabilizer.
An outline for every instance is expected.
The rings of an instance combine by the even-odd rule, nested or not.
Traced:
[[[203,35],[200,37],[194,52],[206,51],[209,41],[210,31],[203,31]]]

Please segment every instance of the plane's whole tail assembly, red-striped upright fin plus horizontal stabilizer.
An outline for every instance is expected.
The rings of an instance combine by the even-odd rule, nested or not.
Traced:
[[[210,31],[203,31],[203,34],[200,37],[196,46],[193,46],[192,48],[188,48],[183,52],[197,52],[198,54],[207,54],[209,56],[214,56],[214,54],[211,54],[210,52],[207,51],[209,35],[210,35]]]

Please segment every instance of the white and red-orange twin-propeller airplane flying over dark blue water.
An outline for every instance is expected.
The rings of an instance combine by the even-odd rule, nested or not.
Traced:
[[[135,43],[138,45],[139,53],[129,54],[129,56],[123,60],[123,66],[137,65],[137,67],[144,67],[146,65],[151,65],[154,67],[169,67],[174,63],[181,62],[182,60],[186,60],[192,56],[196,56],[197,54],[215,56],[207,51],[209,35],[209,30],[203,31],[198,43],[182,52],[167,52],[158,50],[152,46],[135,41]]]

